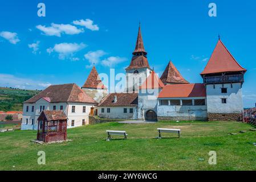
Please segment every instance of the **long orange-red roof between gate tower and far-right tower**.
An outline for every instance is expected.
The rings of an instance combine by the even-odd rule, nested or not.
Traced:
[[[204,84],[165,85],[159,93],[159,98],[173,97],[206,97]]]

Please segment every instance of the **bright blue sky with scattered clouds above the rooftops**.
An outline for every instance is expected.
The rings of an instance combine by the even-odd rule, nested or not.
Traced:
[[[46,17],[37,15],[39,2],[46,5]],[[211,2],[217,5],[217,17],[208,15]],[[0,86],[43,89],[69,82],[82,86],[92,62],[99,73],[109,74],[109,67],[123,73],[140,21],[151,67],[161,75],[172,60],[190,82],[202,82],[200,72],[220,34],[248,70],[243,85],[245,107],[256,102],[253,0],[0,3]]]

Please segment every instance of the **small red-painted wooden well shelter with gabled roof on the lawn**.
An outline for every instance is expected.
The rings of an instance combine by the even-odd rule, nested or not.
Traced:
[[[37,140],[67,140],[67,116],[62,110],[44,110],[38,117]]]

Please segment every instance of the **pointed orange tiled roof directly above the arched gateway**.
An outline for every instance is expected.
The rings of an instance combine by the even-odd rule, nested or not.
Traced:
[[[140,89],[156,89],[156,88],[164,88],[164,84],[156,75],[156,73],[152,71],[151,74],[140,86]]]

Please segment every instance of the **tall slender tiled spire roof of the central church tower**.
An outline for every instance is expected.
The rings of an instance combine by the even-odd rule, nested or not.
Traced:
[[[141,31],[139,27],[139,32],[137,36],[135,51],[132,53],[132,61],[128,68],[126,69],[137,69],[137,68],[149,68],[148,59],[146,57],[147,52],[145,51],[143,39],[141,36]]]

